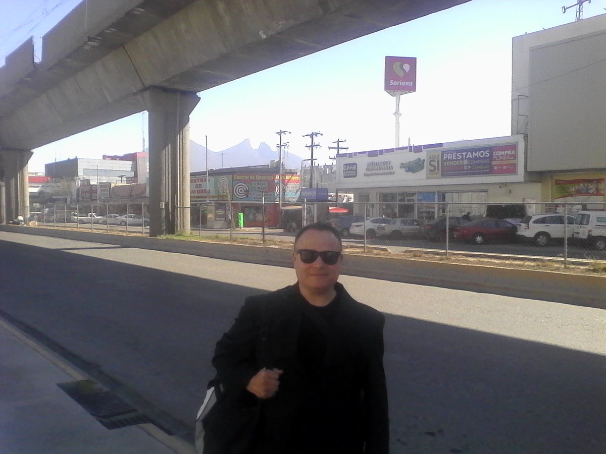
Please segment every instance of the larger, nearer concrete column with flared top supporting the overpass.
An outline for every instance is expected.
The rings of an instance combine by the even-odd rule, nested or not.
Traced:
[[[190,231],[189,116],[200,98],[151,88],[149,113],[150,236]]]

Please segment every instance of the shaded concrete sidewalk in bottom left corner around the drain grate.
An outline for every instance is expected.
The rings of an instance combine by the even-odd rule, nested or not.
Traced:
[[[106,429],[57,386],[87,378],[0,319],[0,452],[195,453],[153,424]]]

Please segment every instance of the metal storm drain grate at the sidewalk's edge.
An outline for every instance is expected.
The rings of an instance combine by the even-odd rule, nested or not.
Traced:
[[[118,395],[93,381],[69,381],[57,383],[57,386],[107,429],[152,423],[151,419],[127,404]]]

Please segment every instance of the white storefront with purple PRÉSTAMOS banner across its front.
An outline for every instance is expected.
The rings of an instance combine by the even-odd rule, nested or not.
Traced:
[[[342,153],[337,182],[339,192],[368,202],[369,217],[427,221],[444,214],[439,202],[453,203],[453,215],[485,215],[485,206],[473,203],[541,199],[541,177],[525,173],[524,160],[522,135]],[[364,214],[361,205],[356,210]]]

